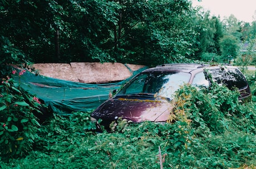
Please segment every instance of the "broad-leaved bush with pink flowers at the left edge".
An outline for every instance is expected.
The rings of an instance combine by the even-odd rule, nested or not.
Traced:
[[[42,104],[29,95],[12,76],[20,78],[26,70],[13,70],[0,84],[0,155],[21,156],[32,150],[40,124],[34,112]],[[18,80],[19,81],[19,80]]]

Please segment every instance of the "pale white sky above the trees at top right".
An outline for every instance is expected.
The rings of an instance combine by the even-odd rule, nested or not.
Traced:
[[[239,21],[256,21],[256,0],[192,0],[193,6],[202,6],[211,16],[228,18],[233,14]],[[253,18],[254,16],[254,18]]]

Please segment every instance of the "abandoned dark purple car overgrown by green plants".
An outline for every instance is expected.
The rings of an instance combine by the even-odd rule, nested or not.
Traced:
[[[216,83],[240,91],[240,100],[250,100],[250,88],[241,71],[231,65],[166,64],[142,71],[115,96],[92,112],[92,120],[109,129],[119,117],[133,122],[166,122],[173,105],[171,100],[181,85],[209,88],[210,77]]]

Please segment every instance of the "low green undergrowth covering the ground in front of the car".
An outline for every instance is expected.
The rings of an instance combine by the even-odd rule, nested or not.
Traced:
[[[113,132],[95,133],[90,112],[57,116],[38,130],[33,151],[2,157],[2,168],[255,168],[255,102],[238,93],[184,86],[168,123],[119,119]],[[159,153],[159,146],[161,153]]]

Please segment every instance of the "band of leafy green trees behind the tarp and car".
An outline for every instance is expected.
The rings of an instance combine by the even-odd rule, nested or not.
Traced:
[[[188,0],[12,0],[0,7],[2,63],[227,62],[237,53],[225,50],[224,35],[255,38],[255,23],[221,22]]]

